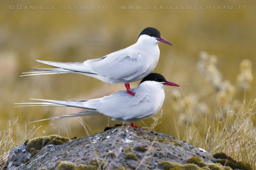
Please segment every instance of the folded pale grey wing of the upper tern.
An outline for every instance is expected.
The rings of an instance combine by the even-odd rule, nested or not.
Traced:
[[[86,60],[84,64],[100,75],[125,81],[140,76],[148,69],[141,54],[136,50],[129,51],[129,48],[110,53],[100,59]]]

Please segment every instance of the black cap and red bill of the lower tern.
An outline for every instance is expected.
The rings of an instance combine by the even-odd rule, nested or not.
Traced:
[[[163,75],[159,74],[159,73],[150,73],[147,76],[145,76],[145,78],[143,78],[140,83],[144,82],[144,81],[156,81],[159,82],[159,84],[162,85],[170,85],[170,86],[176,86],[176,87],[180,87],[180,85],[177,85],[175,83],[172,83],[170,81],[167,81]]]

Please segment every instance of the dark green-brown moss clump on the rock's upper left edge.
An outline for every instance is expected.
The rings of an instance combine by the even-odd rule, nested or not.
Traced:
[[[33,157],[46,145],[62,145],[68,141],[68,138],[60,137],[58,135],[50,135],[27,140],[24,144],[26,145],[27,152],[31,153],[31,157]]]

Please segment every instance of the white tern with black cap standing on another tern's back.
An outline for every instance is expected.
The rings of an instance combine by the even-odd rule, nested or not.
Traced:
[[[141,31],[136,43],[99,59],[90,59],[84,62],[36,60],[56,68],[31,69],[32,72],[22,73],[21,76],[79,73],[106,83],[124,83],[127,93],[134,96],[134,92],[129,90],[129,83],[141,80],[154,71],[160,55],[159,42],[172,45],[161,37],[156,28],[147,27]]]

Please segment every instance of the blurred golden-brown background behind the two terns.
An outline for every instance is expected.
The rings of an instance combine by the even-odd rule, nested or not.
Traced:
[[[93,99],[125,88],[80,74],[26,77],[20,74],[29,68],[47,67],[36,59],[82,62],[103,57],[135,43],[145,27],[156,27],[173,44],[159,43],[161,55],[154,72],[181,85],[165,87],[163,115],[156,115],[161,116],[158,120],[161,124],[154,127],[155,131],[184,136],[184,125],[199,124],[204,118],[211,122],[216,115],[225,117],[239,110],[244,100],[250,107],[250,101],[256,97],[255,3],[1,1],[0,124],[3,129],[15,124],[18,140],[48,134],[81,137],[86,136],[84,124],[89,134],[93,134],[118,123],[95,116],[29,124],[81,110],[50,106],[13,108],[14,103],[29,102],[29,98]],[[194,9],[201,5],[204,9]],[[81,6],[85,9],[81,10]],[[141,9],[136,10],[138,6]],[[131,87],[138,83],[131,83]],[[135,124],[150,127],[153,122],[149,118]]]

